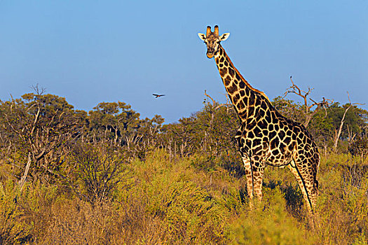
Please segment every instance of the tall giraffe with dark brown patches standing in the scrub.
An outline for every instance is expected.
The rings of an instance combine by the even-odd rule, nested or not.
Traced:
[[[262,181],[266,165],[289,167],[294,174],[307,208],[313,213],[318,195],[317,173],[320,153],[311,134],[300,123],[282,116],[264,94],[252,87],[235,68],[220,44],[229,33],[219,36],[219,27],[207,27],[206,34],[198,33],[207,45],[207,57],[217,65],[219,74],[231,99],[240,126],[236,133],[238,150],[245,167],[250,206],[253,197],[262,198]]]

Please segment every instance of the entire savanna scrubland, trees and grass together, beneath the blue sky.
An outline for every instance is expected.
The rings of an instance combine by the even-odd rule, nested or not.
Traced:
[[[273,99],[320,149],[311,226],[287,168],[266,168],[250,210],[230,104],[205,94],[164,124],[34,89],[0,102],[0,244],[367,244],[368,112],[356,104]]]

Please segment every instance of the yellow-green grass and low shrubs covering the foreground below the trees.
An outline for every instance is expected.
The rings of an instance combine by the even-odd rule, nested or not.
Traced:
[[[0,244],[367,244],[367,163],[322,158],[312,220],[289,169],[266,168],[250,210],[245,177],[213,160],[155,151],[98,203],[62,183],[1,182]]]

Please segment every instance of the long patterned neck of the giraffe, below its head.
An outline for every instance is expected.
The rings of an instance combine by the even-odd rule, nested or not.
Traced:
[[[226,92],[228,92],[231,102],[233,103],[236,112],[241,120],[247,118],[247,111],[250,107],[256,106],[260,100],[267,100],[268,97],[264,92],[261,92],[252,87],[245,78],[235,68],[233,62],[226,54],[222,45],[219,45],[219,51],[214,55],[214,60],[219,69],[220,76],[224,82]]]

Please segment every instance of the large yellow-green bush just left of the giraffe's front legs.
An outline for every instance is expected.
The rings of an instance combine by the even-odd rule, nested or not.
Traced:
[[[223,200],[226,195],[218,199],[205,188],[218,176],[196,172],[188,160],[169,163],[163,152],[156,152],[146,162],[135,162],[134,171],[136,185],[121,198],[139,200],[146,213],[161,223],[156,231],[161,242],[226,243],[231,217]]]

